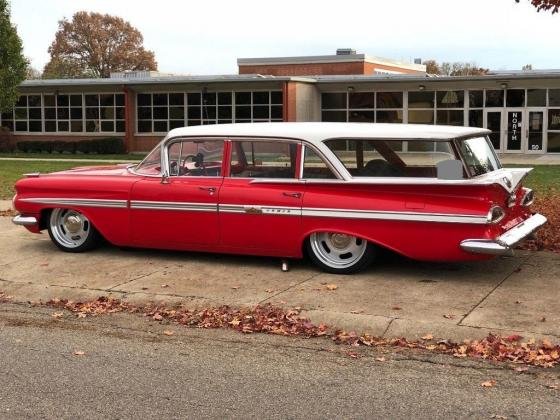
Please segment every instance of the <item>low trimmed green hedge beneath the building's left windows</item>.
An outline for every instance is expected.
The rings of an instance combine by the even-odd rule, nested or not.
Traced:
[[[106,155],[125,152],[124,142],[120,137],[107,137],[82,141],[20,141],[17,144],[17,149],[24,153],[68,152]]]

